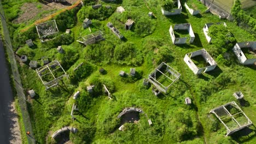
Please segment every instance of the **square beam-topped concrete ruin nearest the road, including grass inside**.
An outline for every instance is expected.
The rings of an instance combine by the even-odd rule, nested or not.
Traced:
[[[67,76],[66,71],[57,60],[36,69],[36,71],[46,89],[59,85],[62,77]]]

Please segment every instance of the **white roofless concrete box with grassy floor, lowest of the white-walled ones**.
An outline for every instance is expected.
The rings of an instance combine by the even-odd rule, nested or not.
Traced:
[[[217,63],[205,49],[187,53],[184,62],[196,75],[211,71],[217,66]]]

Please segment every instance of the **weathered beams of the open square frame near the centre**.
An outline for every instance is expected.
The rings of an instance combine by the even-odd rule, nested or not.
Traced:
[[[167,76],[166,74],[164,74],[160,69],[163,66],[166,66],[166,74],[171,74],[172,77]],[[168,86],[164,86],[162,85],[162,83],[159,82],[159,80],[156,80],[156,73],[159,72],[160,74],[164,75],[165,78],[171,80],[172,82],[170,83],[170,85]],[[154,71],[152,71],[152,73],[149,74],[148,76],[148,80],[150,83],[152,83],[159,91],[166,93],[168,88],[179,79],[179,77],[181,76],[181,74],[178,73],[178,71],[174,70],[172,67],[170,67],[169,65],[167,65],[165,62],[162,62],[160,65],[158,65],[158,67],[155,68]]]

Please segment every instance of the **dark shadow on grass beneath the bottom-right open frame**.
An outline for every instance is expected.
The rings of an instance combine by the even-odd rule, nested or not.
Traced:
[[[232,140],[235,140],[237,143],[245,143],[252,140],[256,136],[255,126],[254,129],[244,128],[234,134],[231,134]]]

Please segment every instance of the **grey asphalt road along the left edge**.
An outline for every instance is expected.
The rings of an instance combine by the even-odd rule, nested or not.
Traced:
[[[20,143],[18,117],[14,110],[13,91],[0,39],[0,143]]]

